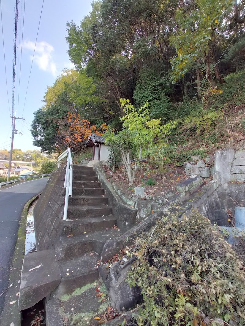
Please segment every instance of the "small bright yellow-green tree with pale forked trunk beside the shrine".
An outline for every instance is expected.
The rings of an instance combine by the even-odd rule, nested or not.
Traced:
[[[147,157],[151,154],[153,148],[156,148],[156,143],[162,147],[166,135],[170,133],[176,122],[162,125],[161,119],[150,119],[148,102],[139,110],[128,99],[121,98],[120,102],[125,114],[121,118],[123,130],[116,134],[110,129],[104,137],[106,144],[113,147],[115,151],[120,151],[128,174],[128,182],[132,185],[142,156]],[[132,153],[134,157],[130,157]],[[131,167],[132,160],[134,160],[133,168]]]

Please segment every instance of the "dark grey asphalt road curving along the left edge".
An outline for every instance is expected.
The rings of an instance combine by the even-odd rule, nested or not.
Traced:
[[[0,190],[0,315],[25,203],[40,194],[48,178],[30,180]],[[1,295],[2,294],[2,295]]]

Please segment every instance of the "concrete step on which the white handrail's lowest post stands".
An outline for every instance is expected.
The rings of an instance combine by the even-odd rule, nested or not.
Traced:
[[[84,232],[95,232],[110,229],[117,224],[117,219],[114,216],[94,216],[71,221],[70,219],[62,220],[64,225],[63,235],[80,235]]]

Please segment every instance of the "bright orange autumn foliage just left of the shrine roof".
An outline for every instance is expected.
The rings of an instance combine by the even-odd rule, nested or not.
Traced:
[[[73,152],[76,152],[81,149],[91,134],[102,136],[106,128],[106,123],[97,127],[91,125],[88,120],[82,119],[79,114],[69,112],[64,117],[62,125],[59,126],[58,135],[65,147],[70,147]]]

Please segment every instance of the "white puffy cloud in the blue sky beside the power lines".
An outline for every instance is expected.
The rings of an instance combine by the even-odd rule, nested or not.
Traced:
[[[35,42],[25,40],[23,48],[34,51]],[[37,42],[33,61],[38,65],[39,69],[49,71],[53,76],[57,76],[57,67],[52,56],[53,51],[54,47],[51,44],[45,41]],[[30,60],[32,60],[32,56],[30,56]]]

